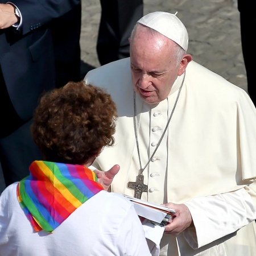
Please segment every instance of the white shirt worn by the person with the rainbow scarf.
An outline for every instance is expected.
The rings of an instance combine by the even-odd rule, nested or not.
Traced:
[[[35,232],[11,184],[0,196],[1,256],[151,255],[141,221],[123,196],[101,191],[52,234]]]

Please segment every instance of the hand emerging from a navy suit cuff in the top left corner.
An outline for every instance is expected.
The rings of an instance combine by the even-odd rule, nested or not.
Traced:
[[[13,26],[18,22],[18,17],[15,15],[15,7],[9,3],[0,3],[0,29]]]

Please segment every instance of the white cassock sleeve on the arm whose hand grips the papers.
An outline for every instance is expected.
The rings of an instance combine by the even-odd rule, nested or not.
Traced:
[[[184,204],[191,213],[195,228],[185,229],[183,234],[193,249],[236,232],[256,219],[255,203],[245,188],[195,197]]]

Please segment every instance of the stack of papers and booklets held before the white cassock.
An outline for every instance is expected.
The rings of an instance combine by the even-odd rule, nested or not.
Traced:
[[[150,221],[156,222],[156,224],[167,224],[167,222],[172,222],[172,220],[176,217],[175,210],[165,205],[152,204],[127,195],[123,196],[133,202],[138,216],[147,218]]]

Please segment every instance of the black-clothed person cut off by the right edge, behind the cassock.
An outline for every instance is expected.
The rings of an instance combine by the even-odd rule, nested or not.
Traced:
[[[247,75],[247,89],[248,93],[256,106],[255,94],[255,64],[254,64],[254,47],[253,31],[256,27],[255,17],[256,1],[255,0],[238,0],[238,10],[240,11],[240,25],[241,25],[241,41],[243,60],[245,61],[246,75]]]

